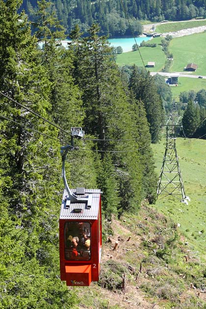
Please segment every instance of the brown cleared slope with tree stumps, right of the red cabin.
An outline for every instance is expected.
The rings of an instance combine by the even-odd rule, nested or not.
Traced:
[[[205,308],[205,264],[177,224],[145,204],[106,225],[100,282],[70,288],[77,308]]]

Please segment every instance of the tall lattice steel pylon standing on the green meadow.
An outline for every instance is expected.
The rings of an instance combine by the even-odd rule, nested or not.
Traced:
[[[167,122],[163,125],[166,126],[166,148],[157,185],[157,198],[160,198],[160,195],[161,199],[174,196],[188,205],[187,200],[190,199],[185,195],[176,149],[176,128],[180,126],[176,103],[173,103],[170,115],[167,117]]]

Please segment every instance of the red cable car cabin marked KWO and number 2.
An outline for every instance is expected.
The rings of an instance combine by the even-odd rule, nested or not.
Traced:
[[[99,280],[102,250],[101,191],[64,190],[59,219],[60,278],[67,285]]]

